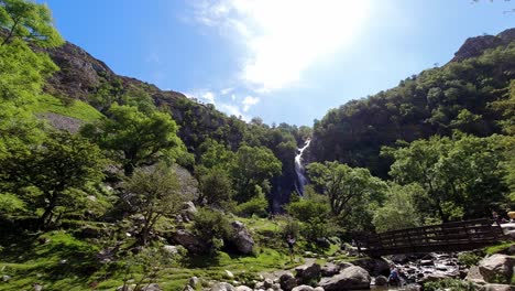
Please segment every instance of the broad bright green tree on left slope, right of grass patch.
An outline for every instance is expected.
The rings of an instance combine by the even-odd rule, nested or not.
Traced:
[[[185,147],[177,137],[177,125],[168,114],[153,111],[145,115],[131,106],[113,105],[108,114],[110,118],[83,127],[81,133],[96,140],[101,148],[121,153],[118,160],[122,163],[125,175],[131,175],[134,168],[151,164],[163,157],[167,150],[178,155]],[[177,158],[177,157],[173,157]]]

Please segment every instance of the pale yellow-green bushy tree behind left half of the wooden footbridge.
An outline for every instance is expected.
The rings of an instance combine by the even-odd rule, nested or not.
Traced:
[[[375,230],[383,233],[420,226],[420,217],[414,202],[417,193],[424,193],[418,184],[391,185],[384,205],[375,212]]]

